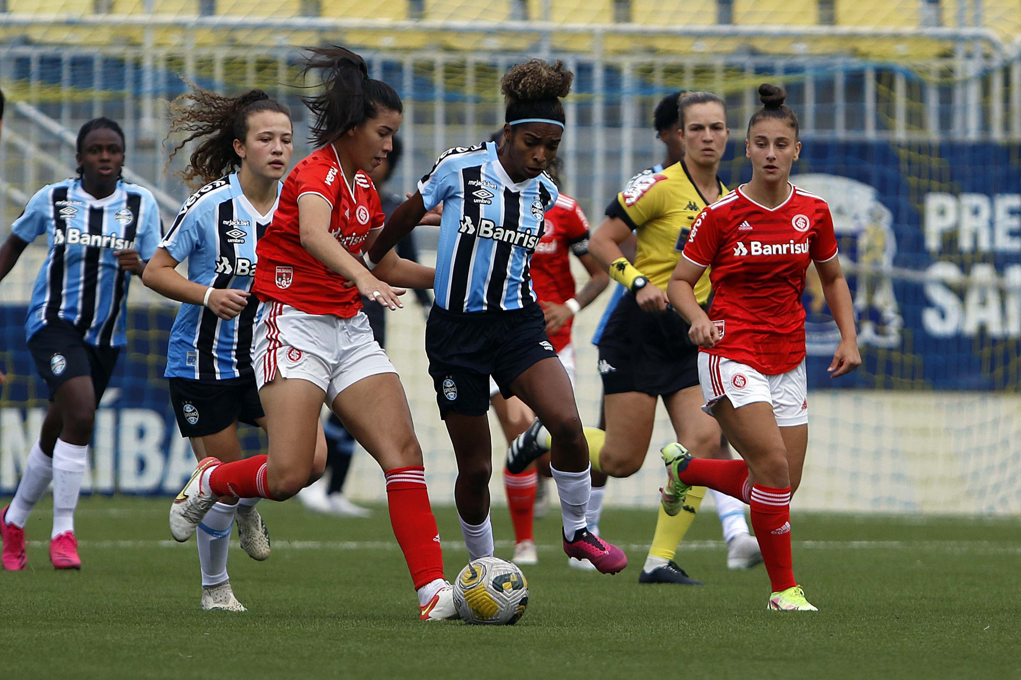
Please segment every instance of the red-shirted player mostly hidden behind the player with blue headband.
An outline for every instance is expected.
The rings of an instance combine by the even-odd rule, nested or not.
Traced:
[[[560,185],[560,177],[552,166],[549,174]],[[531,262],[532,287],[545,314],[546,335],[567,369],[572,384],[575,382],[576,372],[575,351],[571,343],[574,315],[588,307],[610,282],[610,276],[588,253],[588,237],[589,225],[585,212],[577,201],[561,194],[553,207],[546,212],[545,230]],[[569,253],[573,253],[581,261],[589,274],[588,281],[577,292]],[[509,444],[532,424],[535,414],[517,397],[500,397],[499,388],[492,378],[489,389],[493,408]],[[503,470],[503,488],[506,490],[507,508],[515,533],[513,561],[519,565],[533,565],[539,561],[532,534],[539,482],[536,467],[535,464],[529,465],[524,472],[518,474]],[[548,454],[538,467],[543,468],[544,476],[549,476]],[[594,569],[586,560],[570,558],[570,564]]]

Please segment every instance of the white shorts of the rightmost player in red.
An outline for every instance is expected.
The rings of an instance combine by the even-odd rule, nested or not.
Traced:
[[[755,402],[771,404],[776,424],[780,427],[809,422],[809,388],[804,359],[786,373],[765,375],[746,364],[699,352],[698,382],[706,400],[702,411],[709,415],[713,415],[716,403],[726,397],[735,409]]]

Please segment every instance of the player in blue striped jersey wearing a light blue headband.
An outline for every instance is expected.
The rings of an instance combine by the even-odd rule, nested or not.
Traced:
[[[443,204],[436,256],[436,303],[426,353],[440,416],[457,459],[454,500],[472,559],[493,554],[489,520],[492,449],[489,377],[504,398],[517,396],[552,433],[550,470],[561,496],[564,550],[604,573],[627,566],[623,551],[590,532],[587,444],[574,390],[545,332],[529,276],[545,212],[558,192],[545,169],[564,132],[561,98],[574,74],[562,62],[532,59],[503,76],[504,143],[445,152],[370,248],[373,268]]]

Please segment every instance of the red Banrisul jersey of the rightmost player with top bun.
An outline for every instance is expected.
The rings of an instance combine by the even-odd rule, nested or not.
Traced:
[[[805,271],[836,251],[826,201],[793,185],[772,210],[740,188],[702,210],[682,255],[712,267],[709,317],[722,337],[701,351],[766,375],[796,367],[805,359]]]

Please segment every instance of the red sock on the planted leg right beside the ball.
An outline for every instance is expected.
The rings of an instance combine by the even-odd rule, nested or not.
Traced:
[[[443,578],[440,532],[429,505],[426,469],[421,465],[386,471],[390,525],[404,553],[415,589]]]

